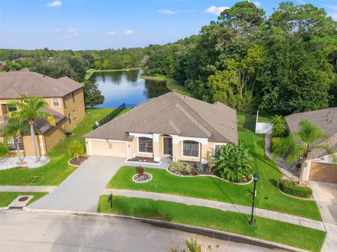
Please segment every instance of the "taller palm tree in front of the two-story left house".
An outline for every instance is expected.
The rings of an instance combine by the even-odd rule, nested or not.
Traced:
[[[35,142],[34,121],[38,118],[45,119],[50,125],[55,126],[55,120],[49,113],[43,111],[47,107],[47,103],[41,97],[28,97],[26,94],[22,95],[22,102],[12,102],[12,106],[16,106],[18,111],[9,113],[9,118],[20,123],[28,122],[30,127],[30,134],[32,135],[32,144],[34,148],[34,162],[39,162],[37,156],[37,144]]]

